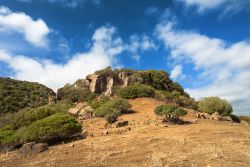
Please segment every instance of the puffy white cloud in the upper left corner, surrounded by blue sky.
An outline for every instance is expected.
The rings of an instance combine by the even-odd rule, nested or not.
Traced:
[[[0,33],[4,32],[21,33],[29,43],[46,47],[50,29],[42,19],[33,20],[25,13],[12,12],[0,6]]]

